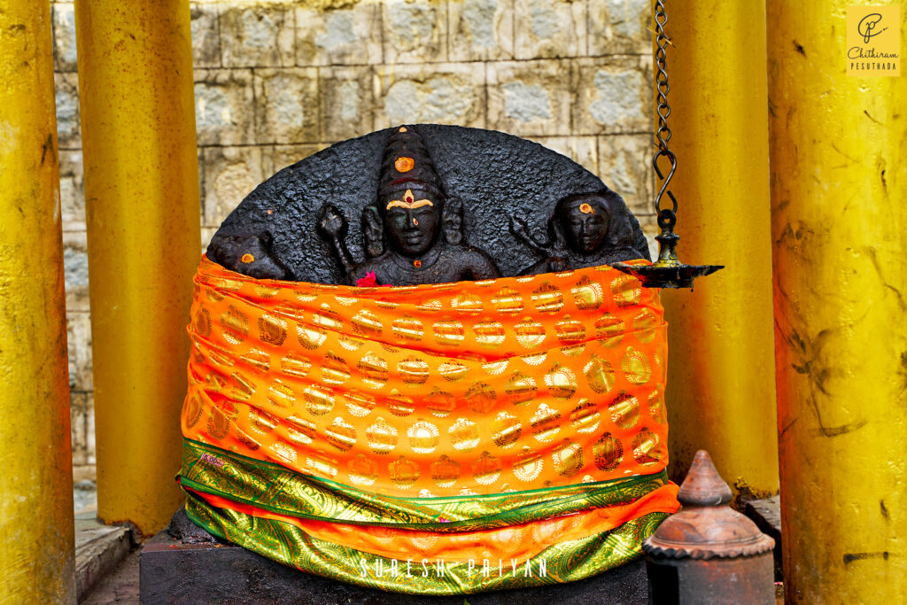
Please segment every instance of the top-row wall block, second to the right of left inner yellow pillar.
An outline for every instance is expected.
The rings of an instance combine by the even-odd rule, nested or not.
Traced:
[[[221,5],[219,29],[224,67],[291,67],[296,62],[290,5]]]

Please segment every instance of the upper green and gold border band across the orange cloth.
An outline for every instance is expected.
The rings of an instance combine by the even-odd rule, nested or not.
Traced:
[[[280,464],[184,439],[178,480],[281,515],[432,532],[465,532],[632,503],[668,483],[664,471],[629,479],[524,492],[442,498],[395,498],[296,473]]]

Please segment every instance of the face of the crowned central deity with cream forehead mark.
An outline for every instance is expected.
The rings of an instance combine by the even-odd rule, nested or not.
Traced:
[[[405,190],[385,197],[380,208],[390,245],[407,257],[420,257],[434,246],[441,226],[441,204],[433,193]]]

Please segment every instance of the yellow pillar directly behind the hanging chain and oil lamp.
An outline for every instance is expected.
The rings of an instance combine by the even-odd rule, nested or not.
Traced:
[[[692,293],[663,292],[671,474],[704,448],[736,493],[765,496],[778,487],[765,4],[667,10],[678,254],[727,266]]]

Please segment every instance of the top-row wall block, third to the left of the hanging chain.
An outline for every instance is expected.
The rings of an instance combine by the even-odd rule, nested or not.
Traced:
[[[450,61],[513,58],[513,0],[462,0],[447,5]]]

